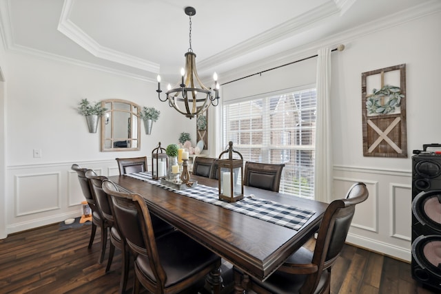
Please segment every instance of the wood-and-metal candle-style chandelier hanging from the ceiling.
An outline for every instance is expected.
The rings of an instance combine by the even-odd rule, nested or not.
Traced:
[[[196,10],[192,7],[185,8],[185,14],[189,16],[189,49],[185,53],[185,70],[181,68],[181,83],[172,87],[167,86],[166,97],[161,98],[161,76],[158,75],[158,98],[160,101],[168,101],[170,107],[174,107],[179,113],[194,118],[207,110],[209,105],[217,106],[219,104],[219,83],[216,72],[214,78],[214,95],[212,89],[205,87],[201,82],[196,71],[196,54],[192,50],[192,16]],[[197,87],[196,87],[197,86]]]

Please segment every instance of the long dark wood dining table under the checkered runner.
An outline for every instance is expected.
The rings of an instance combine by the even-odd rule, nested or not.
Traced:
[[[193,176],[199,185],[217,187],[218,181]],[[291,253],[317,231],[327,204],[283,193],[244,186],[244,195],[273,200],[315,211],[298,231],[183,196],[129,176],[110,176],[112,182],[143,196],[150,211],[238,269],[265,280]]]

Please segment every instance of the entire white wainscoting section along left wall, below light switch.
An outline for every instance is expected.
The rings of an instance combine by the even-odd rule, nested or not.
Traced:
[[[71,169],[74,163],[99,175],[118,171],[114,159],[6,167],[7,234],[81,216],[85,198],[78,176]]]

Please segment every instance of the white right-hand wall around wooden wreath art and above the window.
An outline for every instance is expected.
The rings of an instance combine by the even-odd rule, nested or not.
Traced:
[[[391,21],[392,23],[393,21]],[[422,144],[441,143],[438,84],[441,68],[441,12],[363,33],[342,34],[327,43],[343,43],[333,52],[331,115],[334,150],[334,198],[342,198],[353,182],[362,181],[369,199],[356,209],[348,242],[411,259],[411,156]],[[377,24],[372,24],[377,25]],[[311,51],[310,55],[316,54]],[[406,64],[408,158],[364,157],[362,151],[361,74]],[[305,70],[308,67],[309,70]],[[314,70],[311,75],[310,69]],[[315,79],[316,59],[253,76],[223,87],[224,100],[287,87]],[[313,81],[314,82],[314,81]],[[263,85],[276,85],[278,89]],[[320,185],[320,184],[318,184]]]

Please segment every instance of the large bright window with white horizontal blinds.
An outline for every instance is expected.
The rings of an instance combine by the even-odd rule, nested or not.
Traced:
[[[280,192],[314,198],[316,89],[223,106],[223,145],[244,161],[285,163]]]

